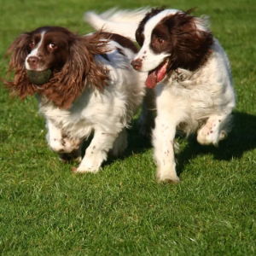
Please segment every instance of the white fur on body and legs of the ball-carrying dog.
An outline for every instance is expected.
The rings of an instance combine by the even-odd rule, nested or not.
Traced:
[[[126,56],[119,54],[116,46]],[[145,77],[130,65],[134,53],[113,41],[108,43],[108,49],[109,61],[96,55],[96,61],[109,70],[109,82],[104,90],[87,84],[68,110],[56,108],[44,97],[40,99],[40,112],[47,119],[47,140],[54,151],[70,153],[77,150],[83,139],[93,134],[76,172],[97,172],[107,160],[109,150],[115,155],[124,151],[127,145],[125,128],[143,99]]]

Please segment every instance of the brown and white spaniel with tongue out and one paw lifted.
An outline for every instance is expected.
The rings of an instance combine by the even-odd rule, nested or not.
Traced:
[[[199,143],[218,145],[230,130],[235,93],[224,49],[206,20],[177,9],[89,12],[85,19],[96,29],[119,31],[140,44],[131,64],[148,74],[145,84],[156,95],[157,176],[177,183],[176,131],[197,132]]]

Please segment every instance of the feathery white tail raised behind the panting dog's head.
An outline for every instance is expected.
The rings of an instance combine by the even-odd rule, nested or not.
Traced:
[[[96,30],[118,33],[132,41],[136,41],[137,26],[148,13],[149,8],[134,10],[109,9],[102,14],[93,11],[84,13],[84,20]]]

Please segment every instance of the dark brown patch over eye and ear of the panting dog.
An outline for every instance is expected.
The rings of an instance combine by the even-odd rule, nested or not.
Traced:
[[[194,16],[178,12],[169,15],[154,27],[151,49],[154,53],[170,53],[169,70],[178,67],[194,71],[211,54],[212,33],[199,30]]]

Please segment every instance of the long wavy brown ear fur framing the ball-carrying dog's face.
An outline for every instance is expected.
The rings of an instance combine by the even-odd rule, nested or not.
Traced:
[[[42,85],[32,84],[26,75],[25,60],[26,55],[30,52],[28,45],[32,32],[20,35],[8,50],[11,55],[9,71],[15,71],[14,81],[5,82],[10,90],[21,99],[38,93],[46,96],[59,108],[70,108],[86,85],[90,84],[102,90],[107,84],[108,70],[96,63],[94,55],[108,52],[106,49],[108,42],[101,41],[100,32],[91,35],[90,38],[68,33],[70,33],[71,40],[67,60],[61,68],[49,67],[52,69],[53,75],[48,83]]]

